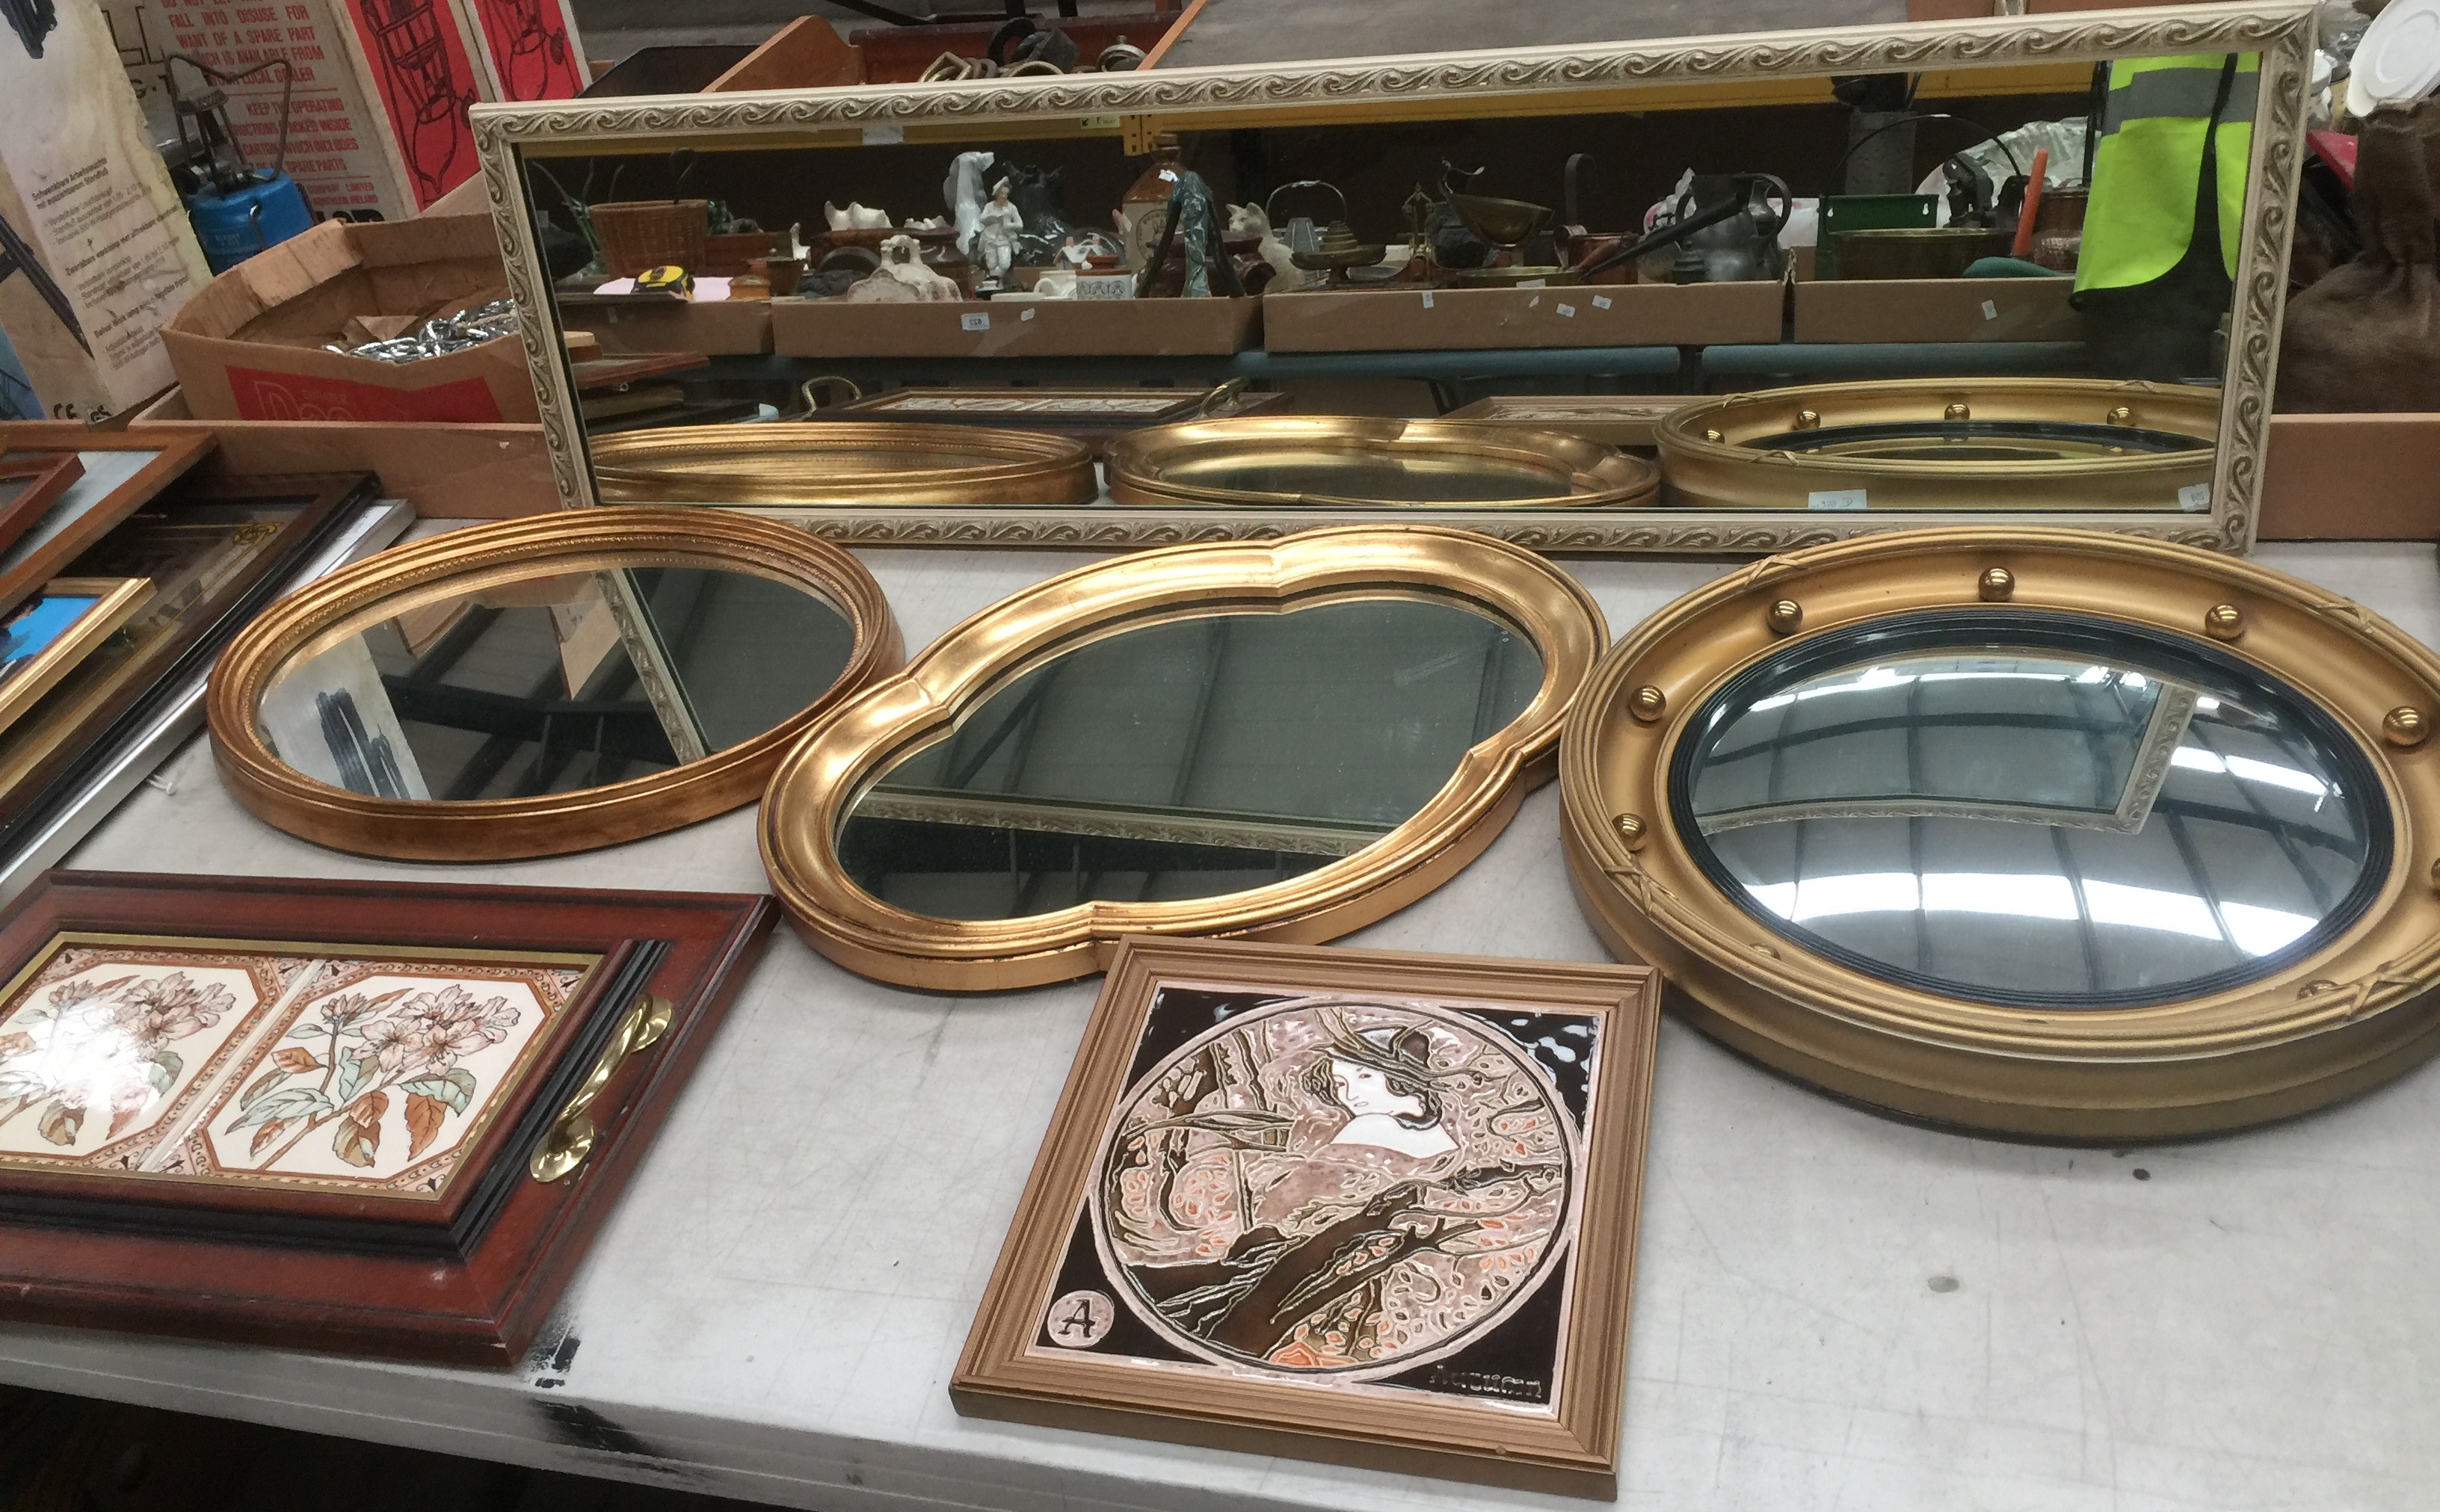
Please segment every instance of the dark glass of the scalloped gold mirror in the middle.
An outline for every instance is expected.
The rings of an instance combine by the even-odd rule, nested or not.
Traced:
[[[839,863],[937,919],[1244,893],[1415,817],[1540,690],[1532,644],[1462,602],[1120,627],[888,763]]]

